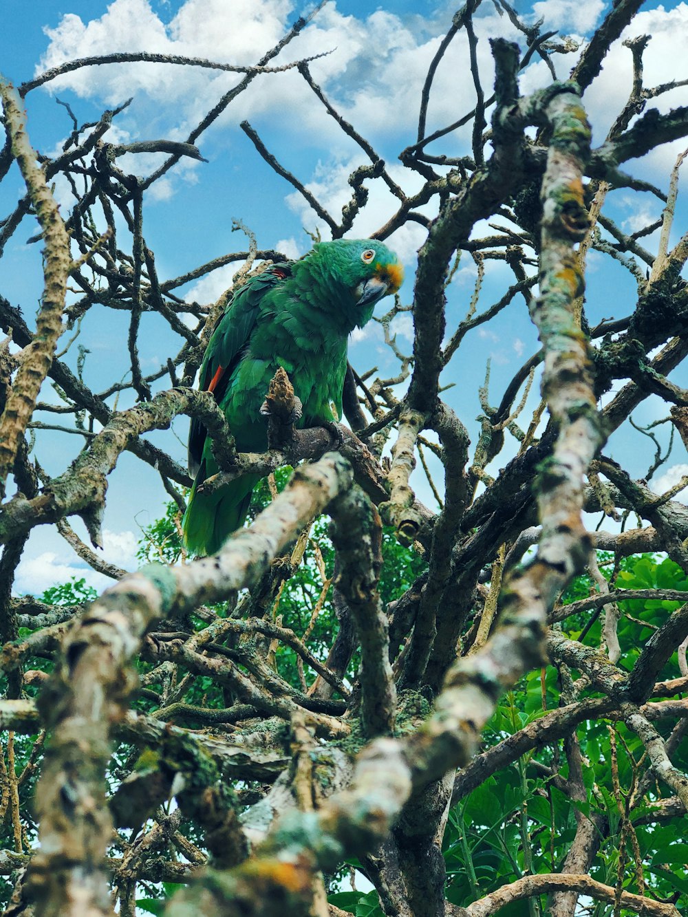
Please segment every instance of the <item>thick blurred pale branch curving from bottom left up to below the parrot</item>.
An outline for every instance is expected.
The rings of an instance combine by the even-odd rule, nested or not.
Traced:
[[[133,687],[128,663],[140,637],[164,614],[220,601],[255,582],[350,481],[349,466],[337,455],[295,472],[283,494],[216,558],[181,568],[144,567],[105,591],[74,627],[41,695],[54,730],[37,794],[41,848],[31,867],[41,912],[79,900],[83,914],[110,913],[103,862],[111,832],[104,785],[108,735],[126,711]]]

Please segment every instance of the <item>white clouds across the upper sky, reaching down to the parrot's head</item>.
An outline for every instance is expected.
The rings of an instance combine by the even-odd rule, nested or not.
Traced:
[[[589,3],[546,0],[536,3],[534,12],[545,17],[544,28],[589,34],[604,6],[603,0]],[[151,50],[237,64],[254,63],[283,35],[293,12],[292,0],[233,0],[231,4],[226,0],[185,0],[176,14],[166,19],[162,12],[154,11],[150,0],[114,0],[102,17],[84,21],[79,16],[67,14],[56,28],[46,29],[50,45],[39,69],[115,50]],[[424,22],[413,14],[400,17],[383,9],[360,17],[345,15],[336,3],[330,3],[273,62],[283,63],[332,50],[327,57],[312,62],[311,71],[316,82],[361,134],[370,138],[381,154],[388,155],[384,148],[393,145],[398,150],[397,138],[408,142],[414,136],[427,66],[438,49],[446,25],[439,15]],[[497,36],[522,39],[522,36],[516,33],[508,17],[499,17],[487,7],[483,7],[483,15],[476,17],[474,27],[479,39],[477,54],[483,87],[487,91],[494,73],[488,39]],[[684,76],[676,71],[676,61],[682,61],[684,56],[688,6],[681,3],[671,9],[659,6],[643,11],[622,38],[642,33],[653,36],[644,55],[646,85]],[[556,56],[561,77],[565,78],[575,59],[575,55]],[[427,131],[445,126],[459,114],[470,111],[474,90],[472,80],[467,78],[467,61],[467,39],[461,31],[452,40],[435,74],[427,110]],[[610,119],[626,102],[631,77],[631,54],[619,39],[606,56],[600,77],[584,96],[594,122],[595,142],[604,139]],[[150,137],[151,131],[158,129],[166,137],[182,138],[213,101],[239,79],[237,74],[200,68],[139,63],[82,69],[50,83],[48,88],[57,91],[69,86],[78,94],[97,97],[108,105],[133,94],[134,104],[123,113],[126,124],[120,130],[128,132],[131,138]],[[531,92],[549,83],[549,71],[544,61],[536,58],[520,79],[523,91]],[[686,101],[688,89],[682,88],[660,96],[649,105],[658,105],[665,111],[670,105]],[[250,117],[259,130],[269,124],[283,131],[287,138],[298,138],[302,145],[304,138],[316,139],[322,149],[322,160],[306,183],[338,219],[342,206],[350,200],[350,172],[366,161],[366,157],[350,138],[341,134],[334,119],[316,103],[300,75],[284,72],[258,77],[211,129],[227,127],[229,122],[236,124],[244,116]],[[489,120],[489,112],[487,116]],[[443,138],[441,151],[448,154],[467,152],[471,127],[467,124]],[[111,132],[110,137],[113,136]],[[204,139],[202,137],[199,142],[203,144]],[[640,170],[644,170],[643,177],[666,184],[666,176],[682,142],[665,145],[646,157],[640,166]],[[142,171],[144,166],[149,168],[157,161],[152,155],[125,158],[127,168],[136,171]],[[388,161],[387,167],[407,194],[414,193],[422,183],[416,173],[394,161]],[[198,163],[194,161],[180,163],[174,173],[153,185],[150,197],[169,200],[180,178],[197,181],[197,168]],[[638,171],[635,163],[632,169]],[[370,188],[369,204],[356,218],[351,237],[370,235],[383,226],[396,209],[397,202],[381,180],[366,182],[366,185]],[[298,193],[287,194],[286,201],[300,216],[303,226],[319,228],[323,237],[328,238],[327,226]],[[436,213],[434,208],[435,202],[431,202],[420,210],[432,217]],[[476,227],[476,231],[479,229]],[[411,265],[425,235],[422,226],[407,223],[394,233],[389,243],[405,264]],[[294,239],[283,240],[280,245],[291,246],[290,255],[303,253]],[[227,275],[230,271],[231,267]],[[193,297],[209,302],[227,287],[226,279],[216,271],[194,287]],[[461,267],[456,282],[467,279]]]

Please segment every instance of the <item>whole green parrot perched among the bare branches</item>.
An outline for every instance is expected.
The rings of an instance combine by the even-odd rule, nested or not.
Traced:
[[[215,395],[240,452],[268,447],[261,405],[281,366],[302,404],[297,426],[340,419],[350,332],[403,280],[404,269],[382,242],[337,239],[319,242],[301,260],[272,264],[234,293],[205,350],[200,387]],[[261,478],[247,474],[216,492],[198,492],[217,470],[205,426],[194,419],[189,471],[195,480],[182,527],[195,554],[215,554],[243,525]]]

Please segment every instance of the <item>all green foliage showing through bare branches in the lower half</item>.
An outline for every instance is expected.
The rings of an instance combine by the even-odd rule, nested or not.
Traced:
[[[279,491],[283,490],[290,473],[289,469],[280,469],[275,473]],[[271,500],[268,481],[261,481],[253,493],[250,518]],[[162,559],[165,562],[178,560],[181,554],[178,524],[177,506],[169,503],[161,519],[144,530],[139,558],[147,561]],[[335,563],[328,525],[326,517],[320,517],[312,525],[303,558],[293,575],[284,581],[278,598],[275,600],[271,597],[266,606],[268,613],[272,612],[273,619],[281,618],[283,626],[293,629],[296,635],[302,636],[309,631],[307,644],[321,659],[327,657],[338,631],[331,586],[326,591],[326,583],[333,576]],[[424,572],[426,565],[413,550],[399,545],[389,529],[383,531],[383,559],[380,593],[386,605],[402,595]],[[688,592],[688,580],[682,569],[668,558],[647,554],[624,558],[618,569],[614,569],[613,559],[600,552],[598,563],[607,578],[614,576],[616,588]],[[563,602],[576,602],[594,591],[596,587],[589,576],[578,577],[566,591]],[[95,591],[86,586],[85,580],[72,579],[46,590],[41,598],[50,604],[65,605],[90,601],[94,595]],[[617,630],[621,646],[625,649],[618,663],[621,668],[632,668],[654,628],[663,624],[668,615],[680,605],[681,602],[656,598],[619,602],[621,618]],[[218,607],[218,613],[225,614],[227,611],[224,607]],[[188,624],[198,629],[205,627],[200,619],[191,619]],[[602,623],[598,611],[571,614],[562,627],[571,637],[583,637],[583,642],[588,646],[596,647],[600,644]],[[229,645],[230,641],[227,641]],[[41,661],[37,664],[40,665]],[[350,679],[354,676],[358,661],[358,657],[352,659],[347,673]],[[293,650],[279,645],[274,665],[283,679],[294,687],[302,686],[302,674]],[[660,678],[675,677],[677,668],[674,656],[660,673]],[[575,671],[571,675],[574,679],[577,677]],[[307,683],[314,678],[307,667],[305,678]],[[555,668],[548,666],[542,671],[529,672],[497,705],[484,730],[484,746],[496,745],[559,707],[563,702],[560,691],[559,673]],[[223,689],[216,680],[209,677],[192,679],[184,701],[204,707],[222,707],[228,703]],[[155,701],[146,697],[139,698],[138,703],[143,709],[155,707]],[[662,735],[668,735],[669,725],[662,721],[656,725]],[[466,907],[473,900],[528,873],[559,871],[576,832],[577,814],[579,817],[602,818],[608,825],[590,870],[591,876],[615,886],[620,869],[624,888],[638,893],[638,873],[628,839],[620,866],[619,849],[624,828],[625,801],[638,786],[638,780],[647,773],[647,762],[643,760],[645,749],[638,736],[629,732],[624,724],[605,721],[603,718],[580,724],[576,728],[576,735],[582,756],[585,789],[583,800],[572,802],[569,795],[548,776],[553,768],[560,779],[568,778],[562,742],[557,741],[532,750],[513,764],[497,770],[450,810],[442,848],[447,869],[446,893],[450,902]],[[17,774],[26,767],[34,740],[33,736],[17,736]],[[125,751],[117,752],[113,758],[113,775],[116,775],[117,768],[122,770],[122,774],[128,772],[134,757]],[[688,770],[688,748],[685,743],[673,753],[672,759],[678,768]],[[631,817],[635,822],[634,830],[649,894],[676,900],[677,907],[681,909],[688,907],[688,879],[685,878],[684,866],[688,859],[688,845],[683,843],[678,820],[660,823],[651,817],[652,801],[666,795],[665,790],[657,783],[649,786],[644,800],[638,802]],[[32,791],[33,779],[29,779],[20,790],[22,799]],[[197,836],[193,824],[184,822],[183,831],[196,843],[203,844],[203,838]],[[10,823],[5,824],[0,845],[13,845]],[[355,861],[350,865],[361,868]],[[148,894],[137,900],[139,911],[160,914],[166,898],[174,888],[146,885]],[[157,897],[159,890],[160,897]],[[0,898],[3,897],[0,890]],[[336,890],[329,895],[328,900],[342,911],[357,917],[382,917],[383,914],[374,891]],[[524,902],[516,902],[500,911],[500,917],[520,917],[527,912],[530,917],[543,917],[546,908],[544,897],[532,900],[529,907],[524,906]],[[621,911],[621,914],[624,912]],[[595,904],[591,913],[593,917],[606,917],[610,909],[606,905]]]

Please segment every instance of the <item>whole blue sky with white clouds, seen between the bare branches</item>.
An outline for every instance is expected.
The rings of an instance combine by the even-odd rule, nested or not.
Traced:
[[[608,8],[603,0],[577,3],[573,0],[545,0],[533,5],[517,3],[525,17],[546,19],[546,28],[558,28],[581,41],[601,21]],[[249,64],[272,46],[285,26],[308,7],[295,6],[290,0],[38,0],[21,6],[21,11],[5,17],[0,35],[0,67],[17,83],[35,72],[63,60],[102,54],[113,50],[154,50]],[[277,62],[293,61],[304,56],[331,51],[312,64],[316,81],[321,83],[339,110],[368,138],[388,162],[394,177],[407,192],[416,188],[413,176],[405,174],[396,159],[398,153],[416,138],[417,111],[427,63],[437,48],[439,38],[449,28],[455,7],[432,0],[388,0],[372,7],[358,0],[338,0],[328,4],[314,23],[288,46]],[[492,4],[484,3],[476,18],[479,36],[479,58],[484,82],[491,82],[491,61],[487,39],[494,35],[515,38],[506,17],[498,17]],[[685,4],[649,4],[644,7],[630,34],[653,35],[645,57],[646,83],[654,85],[672,78],[685,79],[685,39],[688,35],[688,7]],[[559,56],[558,75],[565,78],[575,54]],[[428,128],[441,127],[472,106],[472,85],[468,72],[464,39],[460,36],[440,68],[428,109]],[[105,107],[121,104],[129,95],[133,102],[118,116],[111,139],[127,142],[134,139],[183,139],[189,128],[213,105],[215,100],[237,81],[237,77],[217,72],[182,70],[154,64],[118,65],[89,68],[71,74],[60,83],[52,83],[28,95],[29,134],[34,145],[49,154],[60,148],[71,124],[56,96],[69,102],[78,120],[97,119]],[[549,82],[544,65],[537,61],[523,74],[524,92]],[[594,126],[594,142],[599,143],[613,116],[627,96],[630,85],[630,54],[617,43],[605,61],[605,71],[586,94],[585,103]],[[685,105],[685,88],[660,97],[658,105]],[[353,168],[365,161],[361,151],[338,131],[331,118],[319,107],[315,97],[295,72],[263,76],[251,85],[199,139],[198,146],[207,163],[188,160],[168,178],[154,186],[146,203],[144,232],[163,279],[179,275],[206,260],[227,251],[244,248],[240,233],[232,232],[232,221],[242,220],[256,233],[262,248],[278,247],[289,255],[309,248],[305,229],[323,228],[316,215],[293,189],[257,156],[250,140],[239,130],[239,122],[248,118],[261,138],[283,164],[311,187],[319,199],[338,214],[350,195],[347,177]],[[457,132],[438,144],[437,151],[456,155],[466,151],[468,134]],[[639,177],[666,189],[668,175],[681,144],[671,145],[633,162],[629,170]],[[145,174],[155,167],[159,157],[128,156],[120,160],[122,168]],[[68,189],[56,189],[63,209],[70,205]],[[10,173],[0,186],[0,217],[6,215],[21,193],[17,172]],[[680,202],[682,198],[680,197]],[[625,191],[612,193],[611,213],[627,231],[633,231],[645,220],[660,215],[660,204],[649,195],[632,196]],[[392,198],[382,182],[371,185],[369,207],[354,224],[351,236],[364,236],[394,213]],[[428,215],[433,215],[431,208]],[[685,208],[681,206],[677,226],[685,226]],[[8,244],[0,260],[0,291],[13,304],[19,304],[30,316],[40,293],[39,246],[27,246],[35,231],[33,222],[25,220]],[[490,231],[490,230],[486,230]],[[327,232],[324,233],[327,238]],[[653,240],[645,240],[651,250]],[[394,234],[390,245],[403,258],[407,275],[413,277],[415,252],[423,241],[419,226],[411,225]],[[190,285],[184,293],[199,302],[209,303],[227,287],[237,265],[216,271],[202,282]],[[609,264],[593,253],[589,262],[587,312],[591,324],[604,317],[622,317],[630,311],[634,284],[626,271]],[[448,326],[465,315],[471,299],[475,269],[464,257],[460,270],[449,288]],[[479,309],[494,302],[512,282],[503,265],[488,265]],[[412,294],[411,283],[402,291],[406,302]],[[378,312],[383,311],[383,306]],[[399,344],[406,352],[411,348],[411,326],[408,316],[397,322]],[[99,308],[84,322],[80,341],[90,348],[84,370],[85,380],[100,390],[117,381],[127,370],[126,315]],[[141,358],[144,371],[160,364],[179,348],[179,338],[172,335],[153,315],[144,315],[141,333]],[[480,411],[477,388],[483,381],[487,359],[492,360],[492,403],[498,403],[505,384],[524,359],[537,349],[537,337],[527,317],[522,300],[508,307],[497,322],[476,330],[467,340],[445,373],[445,384],[453,383],[447,392],[449,403],[469,425],[475,442],[478,426],[474,418]],[[75,364],[76,349],[65,359]],[[350,356],[359,370],[377,365],[380,374],[395,370],[394,359],[384,347],[380,326],[371,324],[364,335],[351,343]],[[676,374],[675,380],[688,380]],[[165,382],[161,385],[164,387]],[[169,381],[167,382],[169,384]],[[49,397],[46,392],[44,397]],[[531,394],[535,403],[536,393]],[[119,406],[127,406],[123,396]],[[649,399],[636,414],[637,422],[647,423],[662,414],[657,399]],[[167,448],[175,458],[183,458],[185,422],[175,425],[175,433],[152,438]],[[627,456],[628,440],[619,433],[608,447],[624,461],[628,470],[642,474],[652,457],[651,444],[634,447]],[[58,473],[73,457],[80,445],[74,436],[50,436],[45,445],[39,442],[38,455],[46,468]],[[681,454],[679,454],[681,451]],[[622,458],[623,456],[623,458]],[[499,464],[504,464],[504,458]],[[685,462],[684,450],[678,445],[672,464]],[[427,488],[418,481],[419,492],[430,502]],[[113,559],[125,566],[133,561],[132,548],[138,525],[146,525],[160,514],[165,499],[159,481],[139,463],[128,457],[120,459],[110,482],[110,499],[105,527],[107,550]],[[79,523],[75,523],[78,527]],[[39,591],[52,580],[78,573],[81,561],[60,536],[44,528],[31,536],[27,559],[19,571],[20,590]],[[104,580],[88,574],[97,584]]]

